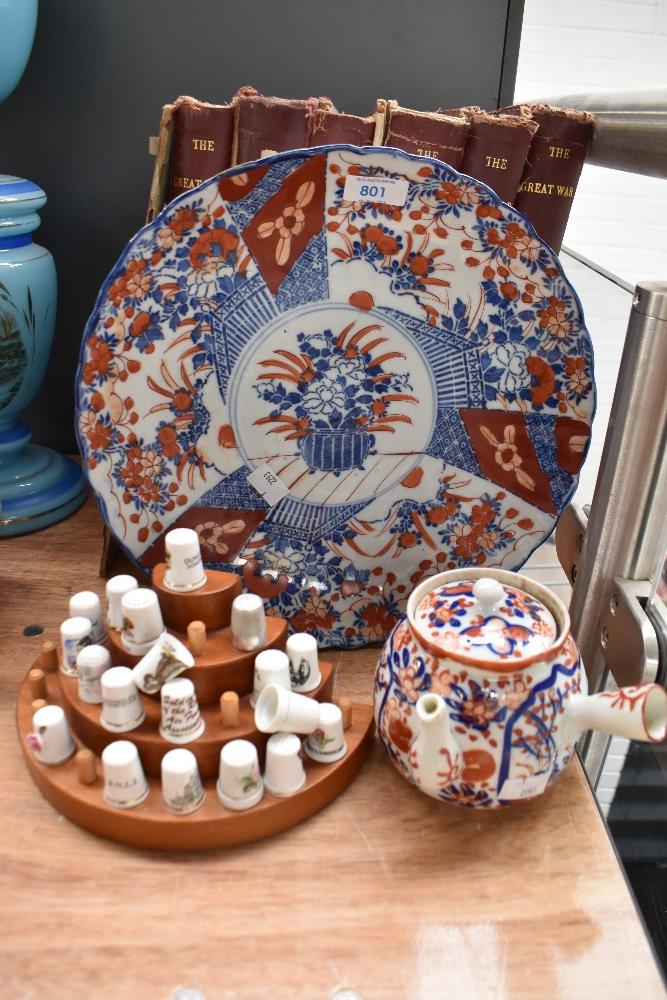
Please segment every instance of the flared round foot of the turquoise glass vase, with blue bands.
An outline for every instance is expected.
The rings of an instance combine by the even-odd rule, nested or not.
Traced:
[[[47,528],[73,514],[86,499],[81,467],[29,441],[24,424],[0,431],[0,538]]]

